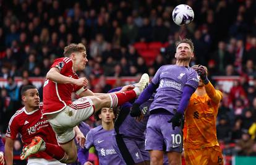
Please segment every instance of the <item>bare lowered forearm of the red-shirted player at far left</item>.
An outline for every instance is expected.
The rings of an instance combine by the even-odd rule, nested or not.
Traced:
[[[13,150],[14,150],[14,140],[9,137],[6,137],[4,153],[6,154],[7,165],[12,165],[12,160],[14,158]]]

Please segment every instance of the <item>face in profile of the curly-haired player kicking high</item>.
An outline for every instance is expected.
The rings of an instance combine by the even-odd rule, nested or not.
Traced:
[[[88,62],[88,59],[85,51],[75,53],[74,65],[77,70],[85,69],[85,65],[87,64],[87,62]]]

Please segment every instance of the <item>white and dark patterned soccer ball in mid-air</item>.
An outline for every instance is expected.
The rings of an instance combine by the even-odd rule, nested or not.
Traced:
[[[180,4],[176,6],[173,10],[173,21],[177,25],[187,25],[194,19],[194,11],[193,9],[186,5]]]

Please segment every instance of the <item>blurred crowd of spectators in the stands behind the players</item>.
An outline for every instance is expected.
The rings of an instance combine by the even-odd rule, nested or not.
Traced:
[[[171,12],[182,3],[194,9],[195,19],[179,27]],[[210,77],[240,77],[229,92],[223,91],[218,114],[224,154],[255,156],[255,9],[253,0],[0,0],[0,77],[7,78],[0,95],[0,129],[6,131],[21,106],[14,77],[22,77],[22,85],[31,83],[28,77],[44,77],[69,43],[86,46],[89,62],[79,75],[90,80],[93,91],[106,92],[112,88],[106,76],[117,78],[115,86],[122,85],[122,76],[153,76],[160,66],[175,62],[176,41],[191,38],[191,65],[207,66]],[[161,46],[149,61],[147,50],[136,45],[150,43]]]

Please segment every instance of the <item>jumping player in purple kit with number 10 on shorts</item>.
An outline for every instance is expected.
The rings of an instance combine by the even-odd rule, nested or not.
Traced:
[[[189,67],[189,62],[194,57],[193,50],[192,41],[179,41],[176,46],[176,64],[161,66],[158,69],[152,82],[130,111],[132,117],[140,116],[140,104],[147,101],[156,91],[155,99],[150,105],[145,138],[145,150],[150,152],[150,164],[163,164],[165,152],[169,164],[181,164],[181,121],[189,98],[199,82],[197,72]]]

